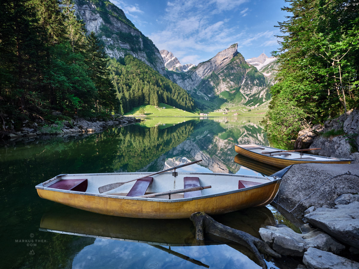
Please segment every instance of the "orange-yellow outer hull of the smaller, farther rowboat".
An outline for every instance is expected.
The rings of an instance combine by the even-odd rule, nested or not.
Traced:
[[[234,149],[238,154],[241,154],[243,156],[246,156],[248,158],[251,158],[253,160],[257,160],[259,162],[264,162],[265,164],[269,164],[275,167],[279,168],[285,168],[292,164],[308,164],[308,163],[319,163],[319,164],[350,164],[352,160],[347,159],[328,159],[328,160],[294,160],[294,159],[285,159],[280,157],[274,157],[266,154],[260,154],[257,152],[253,152],[250,150],[247,150],[245,148],[239,147],[237,145],[234,145]],[[277,148],[272,148],[273,150],[279,150]],[[313,156],[309,155],[308,156]]]

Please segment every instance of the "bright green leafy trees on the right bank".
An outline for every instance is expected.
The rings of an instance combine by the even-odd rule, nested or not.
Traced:
[[[279,82],[271,87],[263,121],[279,144],[357,107],[359,97],[359,1],[286,2],[289,15],[278,25],[281,48],[272,53],[279,57]]]

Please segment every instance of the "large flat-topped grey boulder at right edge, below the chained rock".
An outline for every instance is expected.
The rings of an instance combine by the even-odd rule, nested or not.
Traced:
[[[341,242],[359,248],[359,202],[338,204],[334,209],[317,208],[305,217]]]

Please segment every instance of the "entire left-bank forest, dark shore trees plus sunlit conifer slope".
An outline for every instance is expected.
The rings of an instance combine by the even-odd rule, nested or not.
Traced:
[[[72,0],[1,1],[0,15],[3,130],[28,120],[89,118],[159,102],[195,109],[185,90],[145,63],[132,56],[110,60],[76,18]]]

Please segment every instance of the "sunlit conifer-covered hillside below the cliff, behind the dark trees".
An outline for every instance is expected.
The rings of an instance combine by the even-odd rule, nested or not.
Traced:
[[[195,110],[194,100],[184,89],[131,55],[123,61],[109,60],[108,67],[121,114],[140,105],[158,106],[159,103]]]

